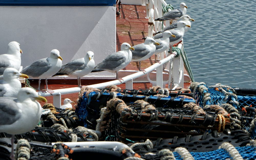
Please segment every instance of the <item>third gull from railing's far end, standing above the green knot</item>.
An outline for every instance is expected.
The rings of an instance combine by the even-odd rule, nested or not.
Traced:
[[[170,42],[169,45],[173,46],[174,44],[178,43],[180,40],[182,40],[184,33],[185,33],[185,29],[184,27],[190,27],[190,25],[187,25],[184,21],[178,21],[177,22],[177,28],[176,29],[171,29],[169,30],[173,35],[175,35],[174,37],[170,37]],[[159,38],[163,38],[163,33],[159,33],[155,36],[153,36],[154,39],[159,39]],[[172,54],[172,50],[170,52],[170,54]]]

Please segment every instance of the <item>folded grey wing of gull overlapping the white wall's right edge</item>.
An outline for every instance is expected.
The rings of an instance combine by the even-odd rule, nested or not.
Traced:
[[[103,59],[103,61],[97,64],[97,66],[95,66],[93,70],[113,70],[116,67],[119,67],[122,63],[125,62],[125,57],[119,52],[113,53]]]

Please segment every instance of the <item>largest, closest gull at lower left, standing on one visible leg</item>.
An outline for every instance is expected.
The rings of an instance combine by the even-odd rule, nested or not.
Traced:
[[[39,123],[42,108],[36,100],[47,102],[29,87],[21,88],[17,99],[0,97],[0,131],[12,134],[11,159],[14,159],[14,135],[29,132]]]

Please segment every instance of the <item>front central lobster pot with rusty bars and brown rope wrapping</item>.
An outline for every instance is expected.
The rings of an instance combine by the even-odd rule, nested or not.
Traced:
[[[197,114],[187,108],[153,108],[150,105],[142,109],[138,103],[127,105],[129,109],[121,114],[113,110],[103,119],[102,138],[107,141],[129,142],[157,140],[158,138],[186,137],[200,135],[205,131],[222,132],[229,128],[229,118],[220,120],[215,112]],[[152,107],[152,108],[151,108]]]

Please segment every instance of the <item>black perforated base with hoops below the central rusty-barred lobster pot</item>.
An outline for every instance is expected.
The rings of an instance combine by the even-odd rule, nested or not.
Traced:
[[[222,133],[218,133],[216,130],[209,132],[204,132],[202,135],[187,135],[186,137],[180,138],[175,136],[173,138],[158,138],[155,141],[152,141],[151,148],[146,147],[146,145],[138,145],[133,147],[133,151],[138,153],[141,156],[144,156],[145,159],[148,159],[148,152],[159,154],[159,151],[168,149],[174,151],[177,147],[185,147],[189,152],[209,152],[217,150],[220,145],[224,142],[232,144],[234,147],[246,146],[250,143],[250,136],[248,136],[242,130],[230,131],[225,129]],[[147,143],[141,142],[141,143]],[[133,145],[132,143],[128,145]]]

